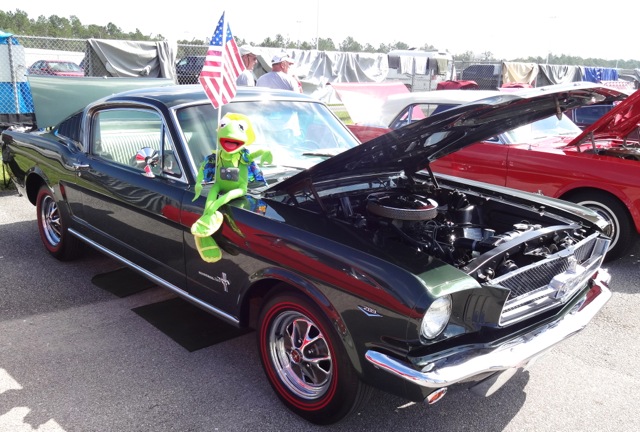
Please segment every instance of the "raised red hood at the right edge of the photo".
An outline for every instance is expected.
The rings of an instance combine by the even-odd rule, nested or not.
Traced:
[[[578,135],[570,145],[586,139],[625,138],[640,122],[640,92],[636,91]]]

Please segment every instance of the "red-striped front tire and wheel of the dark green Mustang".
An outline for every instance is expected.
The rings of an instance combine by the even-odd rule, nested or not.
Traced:
[[[258,323],[258,350],[280,400],[315,424],[335,423],[365,403],[355,373],[325,315],[297,293],[272,296]]]

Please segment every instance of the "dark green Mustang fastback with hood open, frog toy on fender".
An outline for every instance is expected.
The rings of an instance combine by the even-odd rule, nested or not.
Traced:
[[[604,306],[605,220],[428,169],[597,97],[509,94],[360,144],[318,100],[240,88],[222,118],[246,115],[249,151],[269,150],[273,163],[220,207],[215,263],[201,259],[190,231],[211,188],[194,200],[220,118],[201,86],[118,93],[48,130],[5,131],[2,155],[51,255],[71,259],[84,242],[255,328],[280,400],[327,424],[366,403],[371,387],[428,403],[456,388],[488,396]]]

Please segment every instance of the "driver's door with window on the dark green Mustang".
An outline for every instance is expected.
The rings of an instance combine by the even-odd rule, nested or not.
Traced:
[[[80,173],[85,231],[109,251],[183,286],[180,212],[188,185],[162,116],[147,107],[103,109],[92,114],[90,136]]]

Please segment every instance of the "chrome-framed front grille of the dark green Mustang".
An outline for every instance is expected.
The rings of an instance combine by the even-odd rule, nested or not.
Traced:
[[[502,309],[500,325],[510,325],[566,303],[598,270],[608,246],[609,240],[593,234],[545,260],[492,280],[492,285],[510,291]],[[577,274],[569,273],[573,271],[572,261],[579,267],[580,272]],[[572,278],[570,290],[567,292],[559,292],[551,285],[555,277],[563,275]]]

